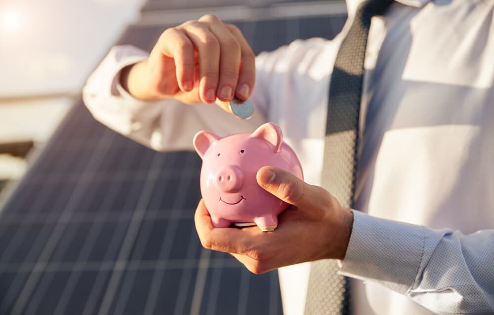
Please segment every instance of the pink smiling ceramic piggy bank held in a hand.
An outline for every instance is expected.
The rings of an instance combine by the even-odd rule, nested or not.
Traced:
[[[274,166],[303,179],[278,125],[266,123],[253,133],[225,138],[200,131],[194,147],[203,160],[201,193],[214,227],[257,225],[272,231],[278,226],[278,214],[289,205],[257,184],[257,171]]]

